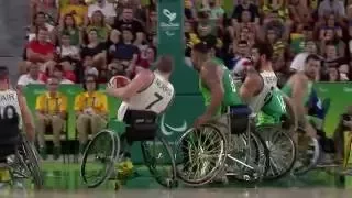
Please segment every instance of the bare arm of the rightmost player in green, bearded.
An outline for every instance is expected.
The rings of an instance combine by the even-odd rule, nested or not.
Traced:
[[[304,118],[306,116],[304,97],[308,89],[308,79],[302,78],[299,75],[295,75],[290,84],[293,88],[292,98],[296,105],[297,117]]]

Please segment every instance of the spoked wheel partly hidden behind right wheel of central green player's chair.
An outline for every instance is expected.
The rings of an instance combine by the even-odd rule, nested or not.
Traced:
[[[270,151],[270,168],[264,179],[277,179],[288,174],[296,162],[296,144],[279,125],[261,125],[257,133]]]

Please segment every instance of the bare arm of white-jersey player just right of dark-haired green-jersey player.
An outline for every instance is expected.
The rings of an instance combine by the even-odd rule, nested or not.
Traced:
[[[243,101],[249,101],[260,89],[261,78],[255,70],[250,69],[245,80],[240,88],[240,97]]]

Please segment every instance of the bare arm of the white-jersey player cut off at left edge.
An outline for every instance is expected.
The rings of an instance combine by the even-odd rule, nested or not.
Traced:
[[[23,127],[25,129],[25,133],[31,141],[34,141],[35,130],[34,130],[34,122],[33,122],[32,114],[29,110],[29,107],[26,105],[24,97],[19,92],[18,92],[18,97],[19,97],[19,105],[20,105],[20,109],[21,109],[21,114],[22,114]]]

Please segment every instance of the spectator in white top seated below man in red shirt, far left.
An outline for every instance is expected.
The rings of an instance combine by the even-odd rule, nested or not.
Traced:
[[[40,78],[40,66],[35,63],[29,63],[29,73],[23,74],[20,76],[18,80],[18,88],[22,89],[26,85],[30,84],[45,84],[43,80]]]

